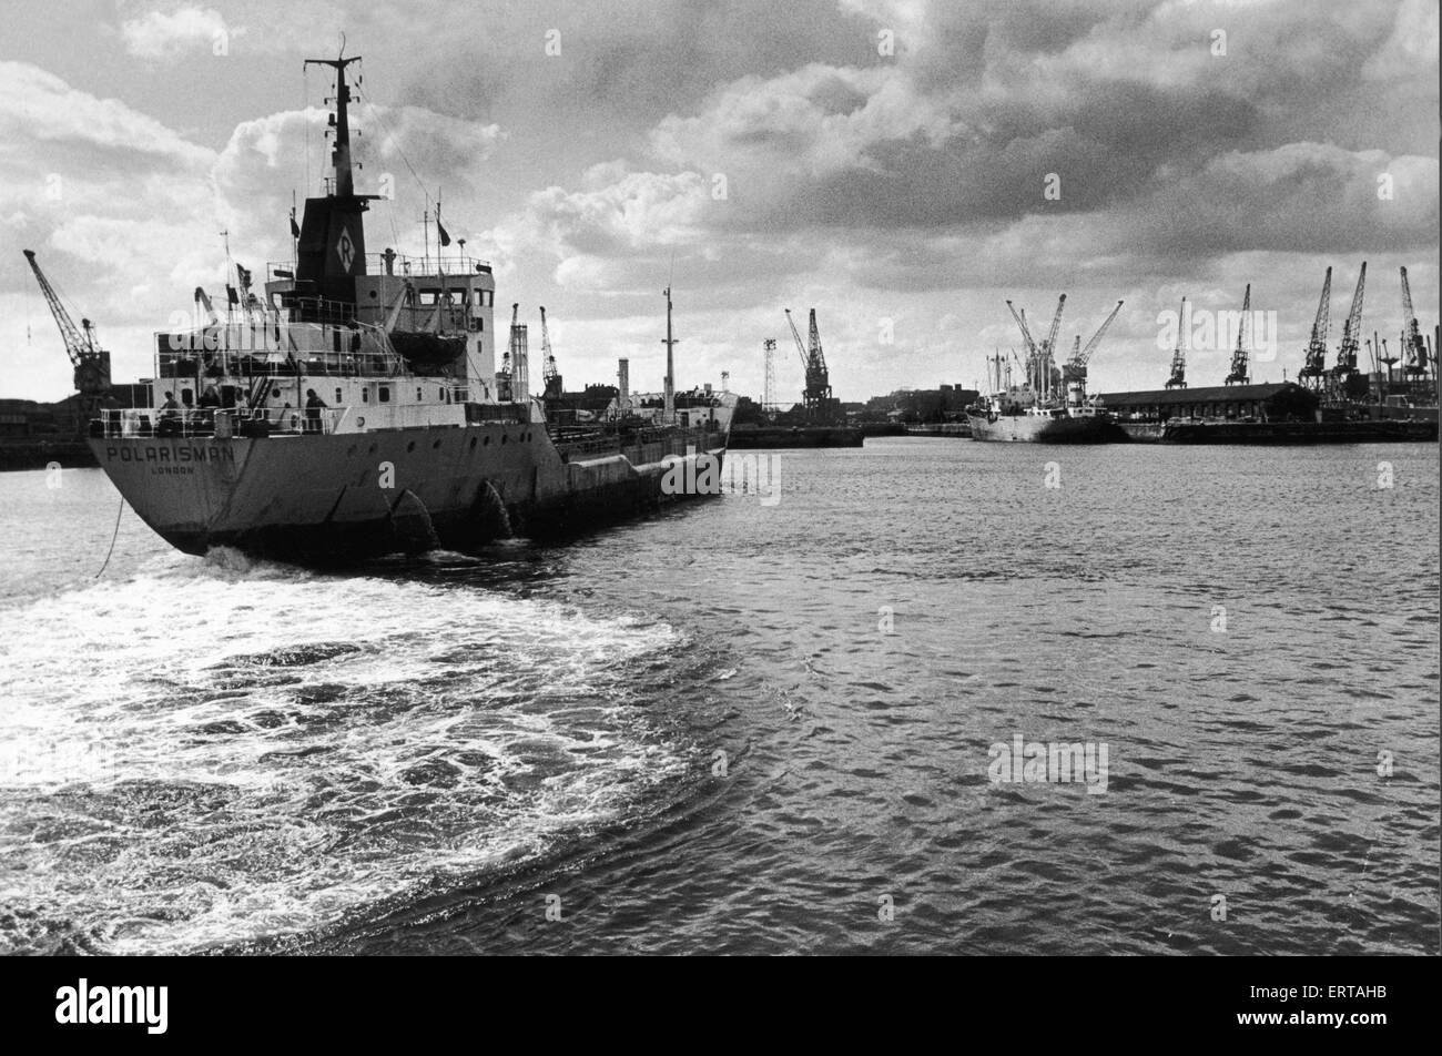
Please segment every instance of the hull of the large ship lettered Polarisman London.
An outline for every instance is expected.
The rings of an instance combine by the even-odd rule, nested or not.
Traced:
[[[673,485],[705,475],[673,463],[711,456],[720,470],[725,452],[715,433],[676,433],[571,453],[534,423],[89,443],[177,550],[234,547],[303,564],[584,531],[695,495]]]

